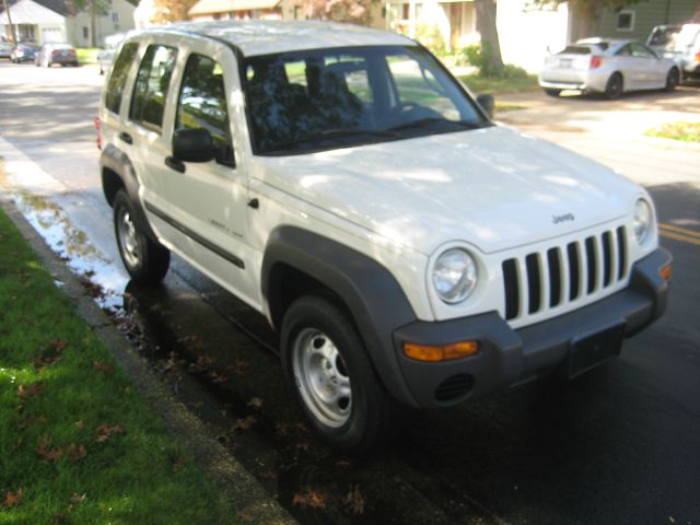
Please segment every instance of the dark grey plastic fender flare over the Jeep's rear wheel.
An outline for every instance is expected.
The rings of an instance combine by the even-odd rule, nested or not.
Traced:
[[[127,154],[114,144],[107,144],[100,155],[100,173],[102,174],[102,190],[109,206],[113,205],[117,191],[124,187],[133,206],[136,224],[151,240],[158,241],[158,236],[145,218],[145,210],[141,206],[139,180]],[[115,175],[121,180],[120,184],[115,179]]]

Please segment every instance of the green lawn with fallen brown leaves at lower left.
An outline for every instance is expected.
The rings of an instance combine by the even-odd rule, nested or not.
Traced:
[[[232,517],[0,210],[0,523]]]

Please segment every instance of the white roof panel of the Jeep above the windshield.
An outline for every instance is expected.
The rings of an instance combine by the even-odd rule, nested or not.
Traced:
[[[327,47],[416,45],[396,33],[335,22],[228,20],[177,23],[145,32],[185,32],[215,37],[235,45],[246,56]]]

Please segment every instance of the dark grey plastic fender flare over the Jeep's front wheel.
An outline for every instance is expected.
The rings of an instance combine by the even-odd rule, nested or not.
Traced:
[[[394,276],[348,246],[295,226],[279,226],[265,249],[261,282],[277,329],[284,307],[282,267],[311,276],[345,302],[384,386],[397,400],[416,406],[393,338],[395,329],[416,320],[416,314]]]

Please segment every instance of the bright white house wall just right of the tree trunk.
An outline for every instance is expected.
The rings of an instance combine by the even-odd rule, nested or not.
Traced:
[[[558,51],[567,45],[569,9],[562,3],[556,10],[526,10],[526,0],[498,2],[501,54],[504,62],[537,72],[548,47]]]

